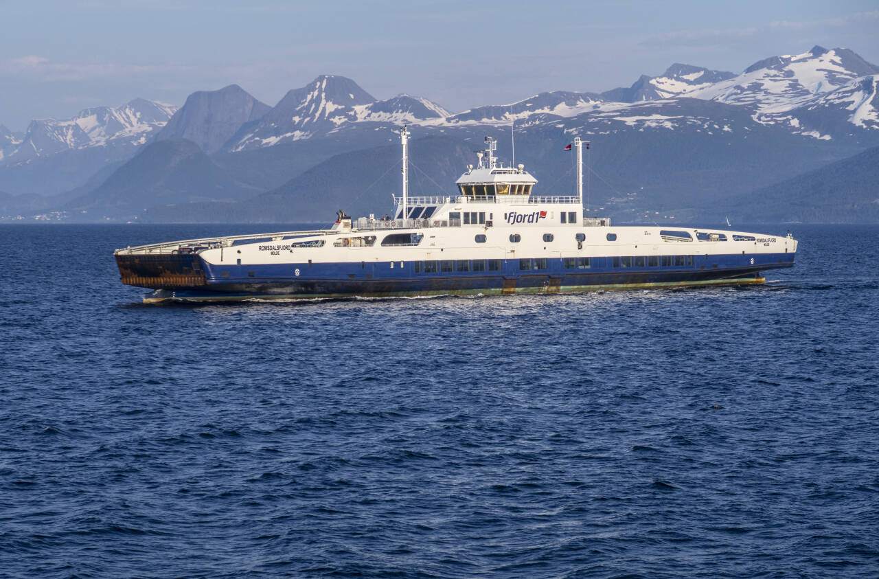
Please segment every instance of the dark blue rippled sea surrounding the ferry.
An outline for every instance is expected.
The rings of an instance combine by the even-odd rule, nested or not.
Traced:
[[[0,576],[879,576],[879,227],[679,291],[145,306],[113,261],[260,230],[0,227]]]

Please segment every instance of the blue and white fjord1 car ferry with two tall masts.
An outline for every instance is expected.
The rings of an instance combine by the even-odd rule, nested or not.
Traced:
[[[156,303],[226,300],[563,293],[762,284],[794,265],[797,242],[718,228],[623,226],[585,217],[577,194],[541,195],[522,164],[485,138],[450,195],[410,196],[408,142],[395,211],[331,228],[162,242],[116,250],[123,284]],[[393,215],[393,217],[391,217]]]

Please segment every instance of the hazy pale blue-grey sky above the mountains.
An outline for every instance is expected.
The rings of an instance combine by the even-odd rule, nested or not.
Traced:
[[[268,105],[320,74],[452,112],[607,90],[672,62],[740,72],[820,44],[879,63],[879,2],[0,0],[0,124],[240,84]]]

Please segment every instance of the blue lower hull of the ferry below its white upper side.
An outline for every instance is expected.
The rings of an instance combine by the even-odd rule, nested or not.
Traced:
[[[211,265],[204,283],[158,288],[145,301],[295,300],[439,294],[563,293],[650,287],[762,283],[761,271],[791,267],[792,253],[693,256],[684,265],[626,266],[628,258],[592,257],[585,268],[561,258],[498,260],[498,271],[473,271],[472,260],[344,264]],[[194,257],[198,259],[197,257]],[[477,260],[483,261],[484,260]],[[451,265],[449,265],[451,264]],[[527,269],[526,269],[527,266]],[[534,269],[534,267],[541,269]]]

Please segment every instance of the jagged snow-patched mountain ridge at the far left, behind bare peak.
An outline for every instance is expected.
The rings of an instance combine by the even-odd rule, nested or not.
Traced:
[[[110,144],[142,145],[149,134],[164,126],[176,106],[135,98],[119,107],[101,106],[80,111],[72,119],[31,121],[22,140],[4,157],[19,163],[76,148]]]

